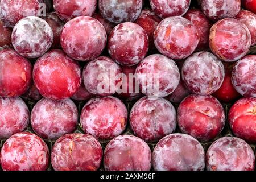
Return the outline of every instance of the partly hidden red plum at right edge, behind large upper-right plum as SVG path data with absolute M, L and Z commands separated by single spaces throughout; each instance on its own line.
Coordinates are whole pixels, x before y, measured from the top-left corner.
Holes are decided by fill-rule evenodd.
M 256 1 L 255 1 L 256 2 Z M 245 24 L 251 34 L 251 46 L 256 45 L 256 14 L 251 13 L 247 10 L 241 10 L 236 19 L 240 20 L 243 24 Z

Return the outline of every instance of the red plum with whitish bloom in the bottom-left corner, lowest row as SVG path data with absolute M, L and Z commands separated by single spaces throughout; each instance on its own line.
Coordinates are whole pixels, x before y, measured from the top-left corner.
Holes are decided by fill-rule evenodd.
M 32 133 L 17 133 L 6 140 L 1 149 L 3 171 L 46 171 L 49 149 Z

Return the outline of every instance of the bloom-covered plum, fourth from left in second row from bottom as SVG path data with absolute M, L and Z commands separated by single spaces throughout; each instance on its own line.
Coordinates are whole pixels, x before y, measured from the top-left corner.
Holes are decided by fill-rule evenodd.
M 131 109 L 130 125 L 137 137 L 146 142 L 158 142 L 175 131 L 176 110 L 164 98 L 143 97 Z

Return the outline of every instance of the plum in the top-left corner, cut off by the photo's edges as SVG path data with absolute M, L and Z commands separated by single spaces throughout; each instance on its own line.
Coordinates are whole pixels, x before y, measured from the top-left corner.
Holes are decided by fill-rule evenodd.
M 38 0 L 1 0 L 0 18 L 5 26 L 14 27 L 22 18 L 39 15 Z

